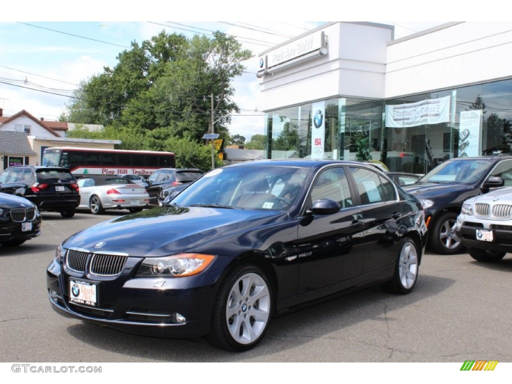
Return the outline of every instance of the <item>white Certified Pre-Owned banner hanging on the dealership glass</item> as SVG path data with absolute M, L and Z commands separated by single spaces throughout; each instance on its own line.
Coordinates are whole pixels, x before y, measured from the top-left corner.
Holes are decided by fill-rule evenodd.
M 450 96 L 408 104 L 386 105 L 386 126 L 402 128 L 450 121 Z

